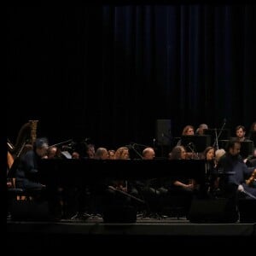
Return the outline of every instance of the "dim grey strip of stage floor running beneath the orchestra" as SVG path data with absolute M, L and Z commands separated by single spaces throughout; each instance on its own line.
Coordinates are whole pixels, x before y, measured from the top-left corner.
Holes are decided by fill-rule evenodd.
M 199 224 L 186 218 L 137 218 L 136 223 L 104 223 L 100 217 L 86 220 L 7 221 L 9 233 L 51 233 L 122 236 L 256 236 L 255 223 Z

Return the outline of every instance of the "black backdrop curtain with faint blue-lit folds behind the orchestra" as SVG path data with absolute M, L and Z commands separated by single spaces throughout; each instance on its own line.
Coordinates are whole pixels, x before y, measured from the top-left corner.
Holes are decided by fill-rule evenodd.
M 256 5 L 9 8 L 7 137 L 152 145 L 157 119 L 256 119 Z M 254 105 L 254 107 L 253 107 Z M 14 108 L 14 110 L 12 110 Z

